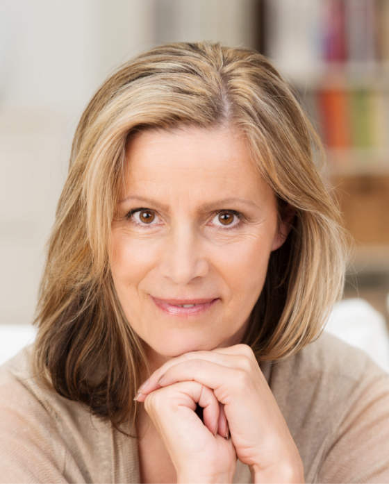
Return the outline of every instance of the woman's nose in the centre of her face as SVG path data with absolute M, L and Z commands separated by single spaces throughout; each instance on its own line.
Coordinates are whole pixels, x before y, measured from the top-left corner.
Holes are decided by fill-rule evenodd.
M 200 239 L 190 226 L 172 228 L 165 239 L 166 245 L 159 264 L 163 276 L 179 285 L 206 276 L 209 265 Z

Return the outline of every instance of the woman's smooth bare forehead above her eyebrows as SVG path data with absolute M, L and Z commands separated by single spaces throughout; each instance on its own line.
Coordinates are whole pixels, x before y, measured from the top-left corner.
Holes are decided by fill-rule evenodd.
M 245 135 L 231 128 L 143 131 L 129 142 L 126 155 L 126 192 L 167 190 L 209 197 L 270 190 L 251 159 Z

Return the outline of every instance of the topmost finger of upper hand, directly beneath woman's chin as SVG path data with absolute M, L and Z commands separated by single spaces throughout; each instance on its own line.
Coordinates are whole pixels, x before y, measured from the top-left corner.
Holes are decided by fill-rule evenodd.
M 251 348 L 247 344 L 236 344 L 229 348 L 218 348 L 213 351 L 191 351 L 189 353 L 184 353 L 177 358 L 172 358 L 166 362 L 162 367 L 160 367 L 150 378 L 143 383 L 138 389 L 135 399 L 139 401 L 144 401 L 142 399 L 142 394 L 147 395 L 149 392 L 153 392 L 160 387 L 158 381 L 167 372 L 167 370 L 174 365 L 181 362 L 185 362 L 193 359 L 204 359 L 210 362 L 218 363 L 219 365 L 224 365 L 230 368 L 242 368 L 249 371 L 250 367 L 259 368 L 258 362 L 252 352 Z

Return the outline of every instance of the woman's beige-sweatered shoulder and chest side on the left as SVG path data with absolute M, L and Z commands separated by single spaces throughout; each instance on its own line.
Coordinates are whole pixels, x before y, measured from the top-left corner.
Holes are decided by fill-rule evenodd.
M 109 482 L 110 424 L 41 385 L 32 351 L 0 367 L 0 482 Z

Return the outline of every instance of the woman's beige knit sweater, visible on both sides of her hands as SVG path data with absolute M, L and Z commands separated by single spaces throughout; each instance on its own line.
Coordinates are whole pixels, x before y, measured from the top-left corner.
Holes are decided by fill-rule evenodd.
M 1 483 L 139 483 L 135 440 L 40 387 L 31 347 L 0 368 Z M 262 367 L 308 483 L 389 483 L 389 376 L 330 335 Z M 234 482 L 250 483 L 238 462 Z

